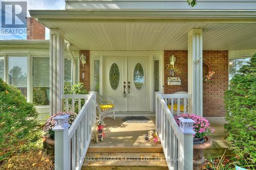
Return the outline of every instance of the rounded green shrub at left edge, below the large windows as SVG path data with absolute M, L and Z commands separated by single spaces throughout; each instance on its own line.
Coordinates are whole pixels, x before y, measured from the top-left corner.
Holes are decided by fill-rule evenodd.
M 0 79 L 0 162 L 19 151 L 37 126 L 37 112 L 15 87 Z

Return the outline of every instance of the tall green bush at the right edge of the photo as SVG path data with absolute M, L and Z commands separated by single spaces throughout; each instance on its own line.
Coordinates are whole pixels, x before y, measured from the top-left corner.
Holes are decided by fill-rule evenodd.
M 230 81 L 230 89 L 225 92 L 225 129 L 230 149 L 246 164 L 256 161 L 256 54 L 247 65 Z

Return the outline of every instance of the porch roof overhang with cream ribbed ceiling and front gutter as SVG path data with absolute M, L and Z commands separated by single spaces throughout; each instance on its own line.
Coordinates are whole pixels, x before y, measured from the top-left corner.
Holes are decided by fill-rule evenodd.
M 187 33 L 203 29 L 204 50 L 256 48 L 256 10 L 30 10 L 81 50 L 186 50 Z

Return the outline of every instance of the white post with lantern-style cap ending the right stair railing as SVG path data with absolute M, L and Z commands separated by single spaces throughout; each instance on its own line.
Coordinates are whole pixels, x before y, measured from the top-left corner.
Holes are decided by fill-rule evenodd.
M 179 170 L 193 169 L 193 135 L 196 133 L 193 130 L 194 120 L 188 117 L 179 117 L 182 135 L 179 140 Z

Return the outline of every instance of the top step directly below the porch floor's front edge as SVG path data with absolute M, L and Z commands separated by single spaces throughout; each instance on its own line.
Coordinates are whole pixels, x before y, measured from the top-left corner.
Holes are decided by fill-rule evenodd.
M 163 153 L 161 146 L 152 147 L 89 147 L 87 152 L 95 153 Z

